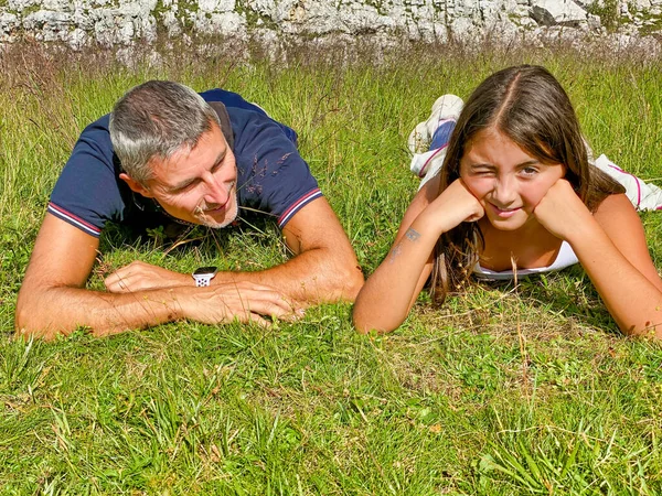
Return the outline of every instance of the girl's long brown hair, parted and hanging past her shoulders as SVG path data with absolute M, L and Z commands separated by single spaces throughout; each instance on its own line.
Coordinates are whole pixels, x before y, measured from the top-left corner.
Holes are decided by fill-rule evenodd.
M 484 129 L 496 129 L 542 163 L 565 164 L 565 179 L 595 212 L 608 195 L 624 188 L 588 163 L 586 143 L 570 99 L 544 67 L 520 65 L 483 80 L 467 100 L 448 143 L 439 194 L 460 176 L 465 148 Z M 444 302 L 471 277 L 484 239 L 478 223 L 462 223 L 441 235 L 435 248 L 433 296 Z

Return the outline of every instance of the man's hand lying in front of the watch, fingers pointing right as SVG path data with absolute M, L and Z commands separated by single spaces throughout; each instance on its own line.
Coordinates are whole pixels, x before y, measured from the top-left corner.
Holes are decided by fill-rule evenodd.
M 264 316 L 292 321 L 303 314 L 274 288 L 247 281 L 195 289 L 195 294 L 180 304 L 186 319 L 205 324 L 237 320 L 268 326 Z

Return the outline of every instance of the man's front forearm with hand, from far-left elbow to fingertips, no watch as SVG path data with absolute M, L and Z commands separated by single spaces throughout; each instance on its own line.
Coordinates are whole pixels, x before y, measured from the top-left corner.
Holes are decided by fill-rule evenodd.
M 245 281 L 126 293 L 49 287 L 19 295 L 17 332 L 52 338 L 84 326 L 94 335 L 105 336 L 180 319 L 204 324 L 238 320 L 268 325 L 269 317 L 292 319 L 292 310 L 278 291 Z

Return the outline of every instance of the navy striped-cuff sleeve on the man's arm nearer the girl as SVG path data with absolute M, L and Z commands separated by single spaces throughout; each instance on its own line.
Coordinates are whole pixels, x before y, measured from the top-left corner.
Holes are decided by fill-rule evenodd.
M 282 228 L 322 196 L 318 182 L 278 123 L 256 112 L 231 110 L 239 205 L 273 215 Z

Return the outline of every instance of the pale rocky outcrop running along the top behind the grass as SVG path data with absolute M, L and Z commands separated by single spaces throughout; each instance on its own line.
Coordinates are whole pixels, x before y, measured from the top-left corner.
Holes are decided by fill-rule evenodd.
M 662 0 L 0 0 L 0 42 L 129 45 L 184 36 L 656 36 Z M 616 33 L 616 34 L 615 34 Z

